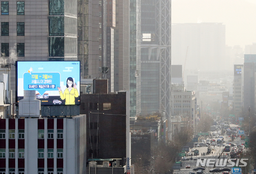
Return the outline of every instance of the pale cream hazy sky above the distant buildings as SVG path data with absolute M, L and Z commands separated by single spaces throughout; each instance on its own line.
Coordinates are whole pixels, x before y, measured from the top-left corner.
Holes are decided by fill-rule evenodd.
M 226 45 L 256 43 L 256 0 L 172 0 L 172 23 L 226 25 Z

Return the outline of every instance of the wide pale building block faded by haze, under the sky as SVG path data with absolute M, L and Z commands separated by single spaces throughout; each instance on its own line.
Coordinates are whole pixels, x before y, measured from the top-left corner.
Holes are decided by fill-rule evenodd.
M 185 70 L 226 70 L 225 25 L 222 23 L 172 24 L 172 64 Z M 227 68 L 228 67 L 228 68 Z M 184 75 L 185 77 L 185 75 Z

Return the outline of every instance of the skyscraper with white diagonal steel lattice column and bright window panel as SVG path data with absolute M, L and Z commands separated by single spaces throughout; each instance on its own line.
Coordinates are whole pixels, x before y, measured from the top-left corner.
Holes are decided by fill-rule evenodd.
M 171 0 L 141 0 L 141 110 L 171 115 Z M 170 121 L 168 121 L 170 123 Z

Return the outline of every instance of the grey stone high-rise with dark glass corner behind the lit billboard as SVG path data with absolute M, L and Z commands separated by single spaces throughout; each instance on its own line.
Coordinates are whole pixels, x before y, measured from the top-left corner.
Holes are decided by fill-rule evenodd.
M 2 1 L 1 63 L 77 60 L 77 3 Z M 10 68 L 15 101 L 15 67 Z

